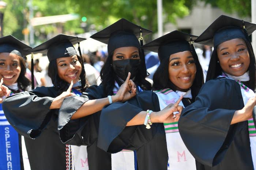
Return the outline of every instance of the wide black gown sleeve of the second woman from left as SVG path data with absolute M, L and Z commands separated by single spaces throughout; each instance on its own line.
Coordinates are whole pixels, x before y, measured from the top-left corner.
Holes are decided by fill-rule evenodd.
M 3 101 L 5 117 L 20 135 L 36 138 L 51 119 L 50 105 L 56 95 L 54 87 L 37 87 L 8 96 Z

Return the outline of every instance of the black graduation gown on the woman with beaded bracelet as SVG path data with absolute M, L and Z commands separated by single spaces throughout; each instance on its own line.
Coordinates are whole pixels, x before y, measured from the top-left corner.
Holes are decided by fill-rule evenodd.
M 184 106 L 188 103 L 182 99 Z M 143 91 L 125 103 L 113 103 L 102 110 L 98 147 L 117 153 L 123 149 L 136 150 L 138 167 L 142 170 L 166 170 L 168 153 L 163 123 L 127 126 L 140 111 L 160 111 L 158 96 L 152 91 Z M 199 168 L 197 168 L 199 170 Z

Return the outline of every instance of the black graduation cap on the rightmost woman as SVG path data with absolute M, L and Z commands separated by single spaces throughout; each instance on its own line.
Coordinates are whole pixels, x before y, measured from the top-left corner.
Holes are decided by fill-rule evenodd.
M 195 40 L 195 43 L 216 47 L 227 40 L 235 38 L 245 39 L 255 29 L 256 24 L 221 15 Z M 245 33 L 248 35 L 245 35 Z

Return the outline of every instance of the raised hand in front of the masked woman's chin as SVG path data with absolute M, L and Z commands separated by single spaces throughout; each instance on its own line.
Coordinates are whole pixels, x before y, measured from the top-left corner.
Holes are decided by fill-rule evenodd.
M 114 102 L 124 102 L 136 95 L 136 85 L 130 80 L 130 77 L 131 73 L 129 72 L 124 84 L 122 84 L 117 91 L 117 94 L 112 96 Z

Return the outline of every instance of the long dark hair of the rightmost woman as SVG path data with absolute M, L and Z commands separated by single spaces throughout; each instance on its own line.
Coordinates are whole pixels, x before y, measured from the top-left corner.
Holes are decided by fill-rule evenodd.
M 255 55 L 254 55 L 254 52 L 252 49 L 251 42 L 249 42 L 247 39 L 243 39 L 243 40 L 246 43 L 248 53 L 250 56 L 250 65 L 248 68 L 250 80 L 249 80 L 248 87 L 251 88 L 253 91 L 255 91 L 255 69 L 256 69 Z M 217 76 L 222 74 L 221 65 L 218 63 L 219 59 L 218 59 L 218 55 L 217 55 L 217 48 L 218 48 L 218 46 L 216 46 L 212 52 L 211 60 L 209 63 L 209 68 L 208 68 L 208 72 L 207 72 L 207 76 L 206 76 L 206 81 L 215 79 L 215 78 L 217 78 Z

